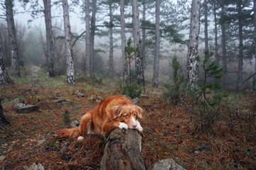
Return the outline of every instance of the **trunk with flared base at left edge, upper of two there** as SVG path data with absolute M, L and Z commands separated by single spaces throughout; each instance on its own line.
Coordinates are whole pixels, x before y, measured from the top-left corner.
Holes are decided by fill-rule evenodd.
M 14 81 L 10 79 L 6 72 L 4 62 L 4 51 L 2 45 L 0 44 L 0 86 L 8 86 L 9 84 L 14 84 Z

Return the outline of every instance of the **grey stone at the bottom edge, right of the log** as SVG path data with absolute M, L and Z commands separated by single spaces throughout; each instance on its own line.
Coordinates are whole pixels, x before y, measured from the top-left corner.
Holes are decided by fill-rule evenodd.
M 174 159 L 162 159 L 160 162 L 156 162 L 153 166 L 153 170 L 186 170 L 181 165 L 174 162 Z

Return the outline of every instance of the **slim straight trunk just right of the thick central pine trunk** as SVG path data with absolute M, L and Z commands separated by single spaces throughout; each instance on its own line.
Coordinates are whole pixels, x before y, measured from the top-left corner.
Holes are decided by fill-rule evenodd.
M 156 46 L 154 56 L 153 86 L 159 84 L 159 53 L 160 53 L 160 0 L 156 0 Z

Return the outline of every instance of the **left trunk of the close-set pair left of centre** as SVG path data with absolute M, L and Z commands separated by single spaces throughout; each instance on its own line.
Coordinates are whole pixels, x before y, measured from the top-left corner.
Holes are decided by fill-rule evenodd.
M 87 73 L 87 77 L 91 77 L 92 76 L 92 69 L 91 69 L 91 54 L 90 54 L 90 9 L 89 9 L 89 0 L 85 0 L 85 30 L 86 30 L 86 34 L 85 34 L 85 64 L 86 64 L 86 73 Z

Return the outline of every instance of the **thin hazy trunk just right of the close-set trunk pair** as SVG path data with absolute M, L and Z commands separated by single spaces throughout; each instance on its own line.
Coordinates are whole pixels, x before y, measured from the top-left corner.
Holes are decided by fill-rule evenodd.
M 109 74 L 110 78 L 114 77 L 114 47 L 113 47 L 113 13 L 112 3 L 110 2 L 110 60 L 109 60 Z

